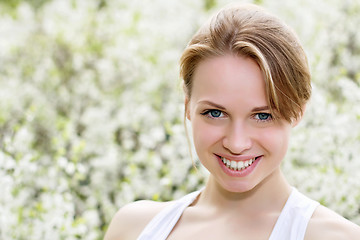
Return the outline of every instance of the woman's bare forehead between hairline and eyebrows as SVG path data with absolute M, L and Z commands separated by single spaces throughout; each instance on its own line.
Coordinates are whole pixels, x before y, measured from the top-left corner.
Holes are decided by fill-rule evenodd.
M 193 80 L 191 98 L 196 102 L 267 105 L 263 74 L 251 58 L 229 55 L 205 60 Z

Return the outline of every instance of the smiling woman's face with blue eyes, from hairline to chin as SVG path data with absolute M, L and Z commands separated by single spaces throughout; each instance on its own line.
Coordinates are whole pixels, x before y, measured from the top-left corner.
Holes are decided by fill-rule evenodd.
M 193 81 L 187 117 L 211 177 L 228 191 L 245 192 L 279 170 L 291 124 L 272 118 L 257 63 L 233 55 L 207 59 Z

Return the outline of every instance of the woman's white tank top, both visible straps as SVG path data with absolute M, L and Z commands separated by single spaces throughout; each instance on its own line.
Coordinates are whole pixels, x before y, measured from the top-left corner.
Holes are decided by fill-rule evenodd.
M 200 192 L 192 192 L 164 208 L 146 225 L 137 240 L 165 240 Z M 318 205 L 318 202 L 293 188 L 269 240 L 303 240 L 308 222 Z

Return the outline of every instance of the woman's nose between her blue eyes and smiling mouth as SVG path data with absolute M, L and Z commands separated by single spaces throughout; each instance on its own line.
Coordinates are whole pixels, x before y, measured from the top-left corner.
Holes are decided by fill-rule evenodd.
M 252 146 L 252 139 L 250 137 L 249 129 L 244 126 L 244 123 L 232 123 L 229 125 L 223 138 L 223 146 L 231 154 L 243 154 Z

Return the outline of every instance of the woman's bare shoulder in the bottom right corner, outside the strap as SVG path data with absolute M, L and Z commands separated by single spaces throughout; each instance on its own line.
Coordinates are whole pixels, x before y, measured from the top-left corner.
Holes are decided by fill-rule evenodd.
M 310 219 L 305 239 L 360 239 L 360 226 L 320 205 Z

